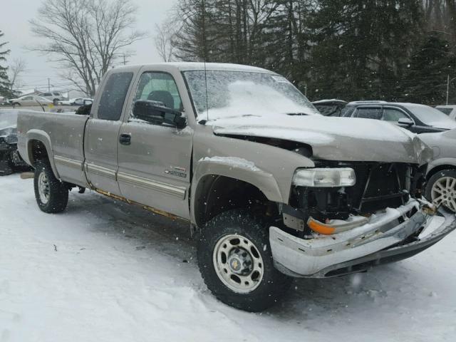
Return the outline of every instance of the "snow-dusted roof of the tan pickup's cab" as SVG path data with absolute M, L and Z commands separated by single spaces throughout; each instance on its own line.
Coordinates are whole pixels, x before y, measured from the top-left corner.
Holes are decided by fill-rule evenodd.
M 115 70 L 119 70 L 121 68 L 132 68 L 132 67 L 175 67 L 179 69 L 179 71 L 191 71 L 191 70 L 204 70 L 204 63 L 200 62 L 167 62 L 167 63 L 151 63 L 151 64 L 140 64 L 135 66 L 121 66 L 119 68 L 115 68 Z M 232 63 L 205 63 L 206 70 L 217 70 L 217 71 L 244 71 L 250 73 L 271 73 L 276 75 L 276 73 L 263 69 L 257 68 L 255 66 L 243 66 L 241 64 L 232 64 Z

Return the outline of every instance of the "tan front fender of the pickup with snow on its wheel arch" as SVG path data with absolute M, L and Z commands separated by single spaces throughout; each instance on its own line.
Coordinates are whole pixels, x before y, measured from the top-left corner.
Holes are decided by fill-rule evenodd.
M 257 187 L 272 202 L 288 204 L 291 182 L 299 167 L 315 167 L 308 157 L 260 142 L 217 136 L 197 130 L 193 143 L 191 207 L 202 177 L 221 175 Z

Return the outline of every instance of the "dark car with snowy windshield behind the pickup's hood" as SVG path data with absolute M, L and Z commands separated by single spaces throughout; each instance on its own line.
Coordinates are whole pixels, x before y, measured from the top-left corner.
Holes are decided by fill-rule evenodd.
M 456 128 L 456 121 L 440 110 L 417 103 L 356 101 L 348 103 L 340 116 L 390 121 L 413 133 L 437 133 Z

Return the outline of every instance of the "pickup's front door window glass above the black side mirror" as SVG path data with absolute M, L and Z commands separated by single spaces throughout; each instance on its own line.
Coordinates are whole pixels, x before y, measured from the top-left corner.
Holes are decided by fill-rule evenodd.
M 169 73 L 143 73 L 136 91 L 136 100 L 157 101 L 167 108 L 183 110 L 176 82 Z

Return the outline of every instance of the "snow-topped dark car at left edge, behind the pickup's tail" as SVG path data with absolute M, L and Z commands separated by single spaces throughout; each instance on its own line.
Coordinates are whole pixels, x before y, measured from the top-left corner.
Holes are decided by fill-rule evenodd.
M 17 151 L 17 110 L 0 110 L 0 176 L 26 167 Z

